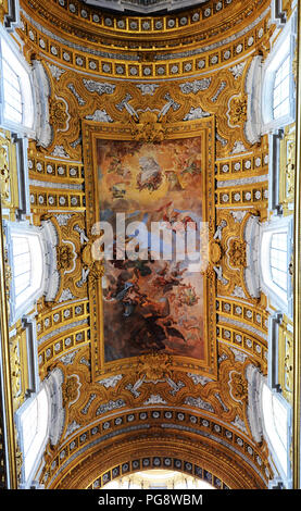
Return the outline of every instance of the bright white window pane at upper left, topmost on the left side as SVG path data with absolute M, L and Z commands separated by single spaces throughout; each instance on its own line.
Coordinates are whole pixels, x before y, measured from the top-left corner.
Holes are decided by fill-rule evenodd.
M 35 113 L 30 71 L 20 51 L 0 29 L 1 125 L 34 134 Z

